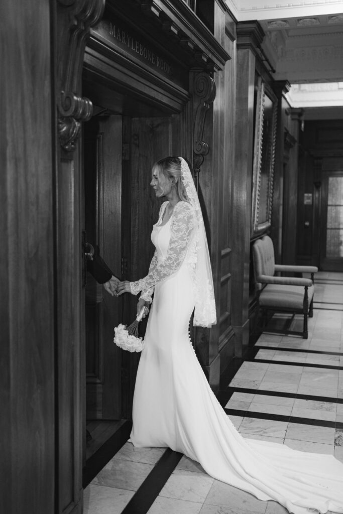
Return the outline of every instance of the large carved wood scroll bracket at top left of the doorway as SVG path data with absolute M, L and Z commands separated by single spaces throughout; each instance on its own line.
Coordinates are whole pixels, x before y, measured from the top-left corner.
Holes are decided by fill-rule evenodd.
M 91 27 L 101 19 L 105 0 L 58 0 L 59 98 L 58 135 L 65 152 L 73 153 L 83 121 L 92 117 L 93 105 L 79 94 L 84 49 Z

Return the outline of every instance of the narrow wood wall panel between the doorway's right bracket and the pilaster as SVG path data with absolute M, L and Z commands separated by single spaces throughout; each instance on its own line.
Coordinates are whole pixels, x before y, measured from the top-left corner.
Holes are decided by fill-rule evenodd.
M 216 77 L 217 98 L 216 102 L 220 108 L 214 109 L 214 116 L 217 123 L 214 125 L 214 147 L 213 160 L 220 169 L 220 180 L 218 183 L 219 208 L 217 229 L 217 259 L 220 273 L 217 276 L 217 303 L 218 309 L 218 332 L 213 335 L 216 338 L 216 351 L 219 361 L 218 378 L 225 371 L 234 355 L 234 332 L 232 329 L 232 248 L 230 242 L 230 197 L 232 181 L 234 176 L 234 136 L 235 116 L 234 105 L 236 103 L 236 26 L 231 16 L 222 12 L 217 7 L 217 16 L 223 20 L 223 25 L 217 38 L 230 55 L 230 60 L 225 65 L 224 72 Z M 218 367 L 218 365 L 217 365 Z M 218 380 L 217 378 L 217 380 Z

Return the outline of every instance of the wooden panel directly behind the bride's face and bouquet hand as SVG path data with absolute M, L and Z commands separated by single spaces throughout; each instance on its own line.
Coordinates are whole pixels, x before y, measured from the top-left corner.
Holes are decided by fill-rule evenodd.
M 162 157 L 175 155 L 180 148 L 179 116 L 123 118 L 122 161 L 122 255 L 125 280 L 146 276 L 154 252 L 150 240 L 161 200 L 156 200 L 150 187 L 152 164 Z M 123 322 L 131 323 L 136 313 L 137 298 L 123 295 Z M 144 336 L 147 320 L 140 324 Z M 139 354 L 122 352 L 124 417 L 131 417 L 132 397 Z

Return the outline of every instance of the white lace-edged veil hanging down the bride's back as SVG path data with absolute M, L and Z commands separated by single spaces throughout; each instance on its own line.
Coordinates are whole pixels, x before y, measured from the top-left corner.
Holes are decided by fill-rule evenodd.
M 185 186 L 190 204 L 193 208 L 196 221 L 196 233 L 193 248 L 195 256 L 195 310 L 193 324 L 195 326 L 210 327 L 216 323 L 216 314 L 211 262 L 207 245 L 204 219 L 196 193 L 193 177 L 188 164 L 183 157 L 179 157 L 179 160 L 181 163 L 182 181 Z

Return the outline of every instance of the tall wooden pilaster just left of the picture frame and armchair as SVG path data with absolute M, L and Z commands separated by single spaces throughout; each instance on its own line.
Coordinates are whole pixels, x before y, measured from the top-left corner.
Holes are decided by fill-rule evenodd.
M 249 267 L 251 183 L 254 142 L 255 24 L 237 33 L 236 137 L 231 190 L 230 240 L 232 247 L 232 326 L 235 355 L 241 357 L 249 340 Z

